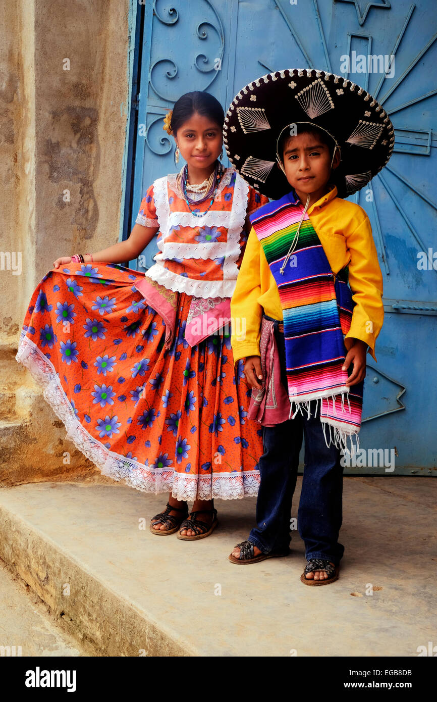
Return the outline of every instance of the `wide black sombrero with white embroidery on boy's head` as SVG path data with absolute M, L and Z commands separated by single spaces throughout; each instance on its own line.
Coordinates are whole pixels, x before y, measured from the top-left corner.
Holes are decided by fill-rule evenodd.
M 391 157 L 393 125 L 363 88 L 316 69 L 275 71 L 241 89 L 223 128 L 231 164 L 267 197 L 279 199 L 290 192 L 276 148 L 284 128 L 301 122 L 314 124 L 337 142 L 342 160 L 332 181 L 339 197 L 360 190 Z

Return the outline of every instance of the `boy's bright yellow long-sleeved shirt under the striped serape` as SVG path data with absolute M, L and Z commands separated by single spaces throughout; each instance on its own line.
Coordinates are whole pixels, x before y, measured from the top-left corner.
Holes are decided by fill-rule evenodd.
M 344 344 L 349 351 L 352 338 L 363 340 L 376 361 L 375 341 L 381 331 L 384 307 L 382 272 L 369 218 L 359 205 L 337 197 L 337 187 L 311 205 L 308 215 L 334 275 L 349 265 L 349 286 L 356 305 Z M 278 286 L 252 228 L 231 299 L 234 331 L 238 330 L 231 336 L 234 362 L 260 355 L 263 312 L 273 319 L 283 319 Z

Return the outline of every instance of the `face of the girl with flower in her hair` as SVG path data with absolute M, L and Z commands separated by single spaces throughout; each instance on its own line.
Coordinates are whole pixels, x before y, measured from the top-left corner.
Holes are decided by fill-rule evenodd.
M 194 112 L 177 130 L 175 140 L 188 168 L 211 171 L 222 149 L 222 129 L 209 117 Z

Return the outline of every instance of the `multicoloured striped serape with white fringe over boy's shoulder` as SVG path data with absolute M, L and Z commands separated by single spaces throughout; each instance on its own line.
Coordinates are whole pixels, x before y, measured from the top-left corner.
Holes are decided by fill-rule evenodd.
M 335 279 L 306 209 L 293 191 L 261 207 L 250 221 L 281 300 L 290 417 L 302 410 L 309 417 L 311 400 L 318 401 L 316 413 L 326 444 L 343 448 L 349 437 L 353 449 L 352 437 L 358 444 L 361 427 L 363 382 L 348 387 L 348 373 L 342 371 L 347 353 L 344 334 L 355 304 L 351 290 L 347 282 Z

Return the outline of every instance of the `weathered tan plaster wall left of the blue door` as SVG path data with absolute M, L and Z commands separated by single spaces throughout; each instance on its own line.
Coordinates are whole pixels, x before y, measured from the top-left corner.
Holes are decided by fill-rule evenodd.
M 106 480 L 64 441 L 15 353 L 29 299 L 53 260 L 118 241 L 128 12 L 129 0 L 0 4 L 0 484 Z

